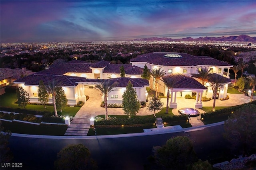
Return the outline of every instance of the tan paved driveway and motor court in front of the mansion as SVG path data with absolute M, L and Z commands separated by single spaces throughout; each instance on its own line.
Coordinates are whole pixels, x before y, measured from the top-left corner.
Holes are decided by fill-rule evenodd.
M 101 103 L 101 95 L 95 89 L 86 89 L 86 94 L 90 97 L 89 100 L 86 101 L 84 106 L 76 113 L 72 123 L 68 127 L 65 135 L 84 135 L 86 136 L 88 130 L 90 128 L 90 118 L 95 117 L 97 115 L 104 115 L 105 108 L 100 107 Z M 228 94 L 230 96 L 229 100 L 216 100 L 216 106 L 235 106 L 239 104 L 244 104 L 250 102 L 250 98 L 245 96 L 244 94 Z M 161 99 L 164 103 L 164 107 L 166 107 L 166 98 Z M 195 100 L 194 99 L 185 99 L 177 97 L 178 108 L 172 109 L 174 115 L 179 115 L 178 110 L 184 107 L 194 108 Z M 212 107 L 213 100 L 208 102 L 202 102 L 203 106 Z M 198 109 L 200 113 L 204 113 L 202 109 Z M 157 111 L 156 111 L 157 112 Z M 137 115 L 152 115 L 147 107 L 141 108 Z M 124 115 L 122 108 L 108 108 L 108 115 Z M 190 123 L 192 127 L 197 127 L 204 125 L 199 117 L 190 117 Z

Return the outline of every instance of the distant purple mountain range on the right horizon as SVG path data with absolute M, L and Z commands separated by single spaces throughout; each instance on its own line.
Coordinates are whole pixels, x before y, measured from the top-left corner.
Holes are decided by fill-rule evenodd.
M 249 35 L 239 35 L 239 36 L 229 36 L 229 37 L 199 37 L 199 38 L 180 38 L 180 39 L 172 39 L 172 38 L 158 38 L 158 37 L 150 37 L 150 38 L 139 38 L 134 39 L 133 41 L 240 41 L 240 42 L 248 42 L 248 43 L 256 43 L 256 37 L 250 37 Z

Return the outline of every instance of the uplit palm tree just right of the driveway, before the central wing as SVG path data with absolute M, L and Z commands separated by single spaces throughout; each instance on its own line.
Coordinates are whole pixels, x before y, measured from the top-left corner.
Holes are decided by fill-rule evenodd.
M 110 80 L 104 80 L 103 82 L 95 86 L 95 89 L 98 90 L 104 96 L 106 120 L 108 119 L 108 98 L 107 97 L 110 92 L 117 90 L 117 89 L 114 89 L 114 87 L 118 84 L 118 82 L 114 82 L 110 86 L 109 84 L 110 84 Z

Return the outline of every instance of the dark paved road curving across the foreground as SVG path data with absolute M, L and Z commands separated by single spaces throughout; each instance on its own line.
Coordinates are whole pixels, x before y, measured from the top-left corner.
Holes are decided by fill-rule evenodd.
M 68 144 L 82 143 L 91 152 L 100 170 L 143 170 L 152 147 L 163 145 L 173 136 L 188 136 L 194 144 L 198 157 L 203 160 L 220 155 L 226 151 L 222 138 L 223 125 L 208 127 L 188 133 L 169 133 L 139 137 L 111 139 L 36 139 L 11 137 L 10 148 L 14 162 L 22 162 L 26 170 L 52 169 L 59 150 Z M 22 169 L 22 168 L 20 168 Z

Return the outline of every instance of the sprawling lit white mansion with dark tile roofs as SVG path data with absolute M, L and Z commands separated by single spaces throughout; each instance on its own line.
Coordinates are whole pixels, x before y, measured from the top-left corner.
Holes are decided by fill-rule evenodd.
M 126 90 L 129 81 L 136 89 L 138 100 L 146 101 L 148 93 L 146 87 L 155 89 L 154 78 L 150 80 L 142 79 L 143 68 L 146 65 L 150 70 L 161 68 L 166 72 L 165 76 L 176 78 L 177 83 L 172 90 L 170 107 L 176 108 L 176 98 L 189 94 L 196 95 L 195 107 L 202 107 L 202 97 L 212 98 L 213 90 L 210 84 L 202 85 L 198 78 L 193 78 L 192 74 L 197 73 L 197 69 L 207 67 L 210 73 L 226 77 L 227 81 L 223 88 L 218 89 L 217 98 L 227 96 L 229 79 L 229 70 L 232 65 L 218 61 L 207 56 L 193 56 L 186 53 L 167 53 L 153 52 L 139 55 L 130 60 L 131 64 L 110 64 L 108 61 L 99 61 L 98 63 L 88 63 L 85 61 L 73 60 L 63 64 L 53 64 L 49 68 L 30 74 L 16 80 L 14 83 L 22 86 L 30 96 L 30 102 L 38 102 L 38 84 L 40 80 L 45 85 L 52 80 L 56 80 L 62 86 L 70 106 L 82 100 L 86 102 L 88 88 L 93 88 L 99 84 L 102 79 L 108 79 L 111 83 L 118 82 L 115 87 L 117 90 L 110 92 L 108 103 L 122 103 L 122 96 Z M 125 77 L 120 77 L 120 67 L 124 66 Z M 160 81 L 158 91 L 163 95 L 167 94 L 166 86 Z M 49 103 L 51 103 L 49 96 Z M 104 97 L 102 96 L 102 101 Z

